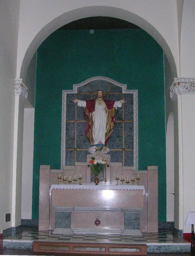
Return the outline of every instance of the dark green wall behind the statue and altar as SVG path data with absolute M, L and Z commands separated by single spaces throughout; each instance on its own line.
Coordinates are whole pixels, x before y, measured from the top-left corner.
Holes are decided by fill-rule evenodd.
M 32 218 L 39 166 L 60 169 L 62 90 L 97 76 L 138 90 L 139 170 L 158 165 L 158 219 L 166 221 L 163 51 L 142 29 L 56 31 L 37 50 Z

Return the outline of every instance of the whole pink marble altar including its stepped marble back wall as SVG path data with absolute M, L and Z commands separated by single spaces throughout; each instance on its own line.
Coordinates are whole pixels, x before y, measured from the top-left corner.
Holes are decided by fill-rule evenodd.
M 158 232 L 157 166 L 135 171 L 110 162 L 108 154 L 96 153 L 96 159 L 102 157 L 107 158 L 108 165 L 106 180 L 99 185 L 91 179 L 89 161 L 64 170 L 40 166 L 39 230 L 138 235 L 142 231 Z M 59 177 L 65 175 L 76 177 L 75 182 L 64 184 L 62 179 L 59 184 Z M 137 180 L 133 184 L 120 182 L 127 176 L 139 176 L 139 184 Z M 80 184 L 78 177 L 82 177 Z

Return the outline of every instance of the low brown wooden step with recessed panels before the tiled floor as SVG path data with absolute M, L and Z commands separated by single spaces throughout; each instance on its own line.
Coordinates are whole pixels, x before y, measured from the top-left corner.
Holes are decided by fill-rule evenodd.
M 34 241 L 33 252 L 96 255 L 147 255 L 146 244 L 100 244 Z

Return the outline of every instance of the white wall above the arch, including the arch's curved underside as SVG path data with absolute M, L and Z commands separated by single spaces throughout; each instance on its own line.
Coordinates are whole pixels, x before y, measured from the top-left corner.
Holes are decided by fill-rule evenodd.
M 20 14 L 17 77 L 26 79 L 26 67 L 47 36 L 90 16 L 121 18 L 145 29 L 163 48 L 174 76 L 179 75 L 176 0 L 21 0 Z

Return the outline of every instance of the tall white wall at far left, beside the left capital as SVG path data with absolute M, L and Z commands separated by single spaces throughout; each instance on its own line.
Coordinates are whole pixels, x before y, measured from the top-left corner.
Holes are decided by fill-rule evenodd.
M 0 233 L 11 227 L 4 221 L 11 213 L 13 138 L 14 138 L 14 79 L 17 65 L 17 40 L 20 0 L 0 1 Z

